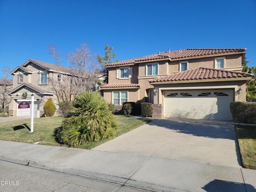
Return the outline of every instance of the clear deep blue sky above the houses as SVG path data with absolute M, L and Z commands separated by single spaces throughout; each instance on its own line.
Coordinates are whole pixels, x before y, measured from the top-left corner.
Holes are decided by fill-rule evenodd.
M 14 68 L 29 58 L 54 62 L 49 45 L 65 55 L 80 43 L 98 54 L 112 45 L 119 60 L 169 47 L 246 47 L 254 66 L 255 10 L 255 0 L 0 0 L 0 67 Z

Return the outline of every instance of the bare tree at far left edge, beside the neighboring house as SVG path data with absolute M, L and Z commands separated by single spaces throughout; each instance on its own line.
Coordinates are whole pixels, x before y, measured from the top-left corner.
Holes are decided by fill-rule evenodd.
M 4 77 L 0 79 L 0 87 L 1 87 L 1 92 L 0 92 L 0 102 L 1 102 L 1 108 L 5 109 L 6 106 L 10 103 L 10 97 L 7 95 L 7 93 L 11 89 L 12 81 L 9 78 L 10 75 L 10 67 L 5 66 L 3 68 L 3 75 Z

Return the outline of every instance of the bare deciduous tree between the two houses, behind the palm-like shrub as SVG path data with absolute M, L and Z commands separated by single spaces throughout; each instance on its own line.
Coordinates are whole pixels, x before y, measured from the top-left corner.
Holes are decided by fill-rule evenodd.
M 49 51 L 62 71 L 62 74 L 60 74 L 61 81 L 53 76 L 49 77 L 52 91 L 59 103 L 71 101 L 75 94 L 94 89 L 100 70 L 98 70 L 99 65 L 90 53 L 89 46 L 86 43 L 82 43 L 80 47 L 75 48 L 75 52 L 67 54 L 68 68 L 62 65 L 61 54 L 56 46 L 50 46 Z

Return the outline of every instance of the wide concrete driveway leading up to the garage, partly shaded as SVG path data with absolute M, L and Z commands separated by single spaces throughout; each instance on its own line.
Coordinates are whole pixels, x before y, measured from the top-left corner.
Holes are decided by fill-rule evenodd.
M 156 119 L 93 150 L 241 165 L 234 124 L 216 120 Z

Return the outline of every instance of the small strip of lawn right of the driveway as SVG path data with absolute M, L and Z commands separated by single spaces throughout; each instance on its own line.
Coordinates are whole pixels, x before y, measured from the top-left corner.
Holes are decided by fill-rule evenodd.
M 256 170 L 256 126 L 235 125 L 243 167 Z

